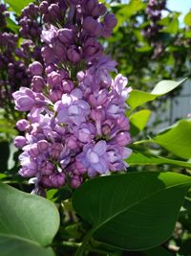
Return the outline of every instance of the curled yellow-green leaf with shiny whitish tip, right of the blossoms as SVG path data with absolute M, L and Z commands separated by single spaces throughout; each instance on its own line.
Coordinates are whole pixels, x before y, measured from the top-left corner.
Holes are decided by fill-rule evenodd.
M 155 86 L 155 88 L 151 91 L 151 93 L 143 92 L 139 90 L 133 90 L 130 92 L 130 97 L 127 100 L 127 104 L 130 105 L 131 111 L 134 110 L 139 105 L 143 105 L 145 103 L 151 102 L 172 90 L 176 87 L 180 86 L 181 83 L 186 81 L 186 79 L 181 81 L 171 81 L 171 80 L 163 80 L 159 81 L 159 83 Z

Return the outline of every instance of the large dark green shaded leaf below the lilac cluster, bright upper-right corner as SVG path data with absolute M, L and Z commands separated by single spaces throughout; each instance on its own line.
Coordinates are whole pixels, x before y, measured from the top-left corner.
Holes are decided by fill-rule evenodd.
M 86 236 L 126 250 L 145 250 L 172 234 L 191 177 L 175 173 L 101 176 L 74 193 L 74 209 L 93 225 Z M 82 255 L 82 254 L 76 254 Z

